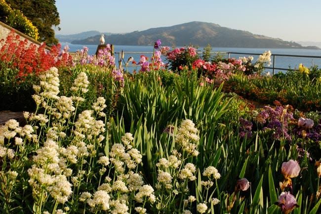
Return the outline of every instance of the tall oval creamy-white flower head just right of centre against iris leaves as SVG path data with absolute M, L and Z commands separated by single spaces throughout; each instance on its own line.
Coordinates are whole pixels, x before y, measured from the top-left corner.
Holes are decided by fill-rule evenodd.
M 198 129 L 191 120 L 184 120 L 178 128 L 175 142 L 181 146 L 182 150 L 190 155 L 198 156 L 197 143 L 200 140 Z

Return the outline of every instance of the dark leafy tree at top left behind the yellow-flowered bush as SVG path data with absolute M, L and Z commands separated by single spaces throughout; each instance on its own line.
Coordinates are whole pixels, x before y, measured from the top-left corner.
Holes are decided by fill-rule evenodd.
M 52 26 L 60 24 L 56 0 L 5 0 L 12 8 L 20 10 L 39 30 L 39 41 L 58 43 Z

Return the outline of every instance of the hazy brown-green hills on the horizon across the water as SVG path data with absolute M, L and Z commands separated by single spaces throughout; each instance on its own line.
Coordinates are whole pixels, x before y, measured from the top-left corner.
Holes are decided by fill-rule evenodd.
M 74 40 L 73 44 L 98 44 L 100 35 L 83 40 Z M 106 43 L 117 45 L 153 45 L 161 40 L 162 45 L 213 47 L 254 47 L 254 48 L 305 48 L 301 44 L 286 42 L 247 31 L 234 30 L 206 22 L 189 22 L 170 27 L 151 28 L 127 34 L 114 34 L 105 37 Z M 310 47 L 318 49 L 318 47 Z

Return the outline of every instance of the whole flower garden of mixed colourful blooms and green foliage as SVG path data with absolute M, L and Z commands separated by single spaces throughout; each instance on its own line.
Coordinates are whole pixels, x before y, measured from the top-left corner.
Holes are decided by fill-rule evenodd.
M 124 70 L 109 45 L 71 55 L 11 33 L 0 49 L 0 110 L 25 117 L 0 127 L 0 213 L 321 213 L 318 67 L 271 76 L 270 51 L 161 41 Z

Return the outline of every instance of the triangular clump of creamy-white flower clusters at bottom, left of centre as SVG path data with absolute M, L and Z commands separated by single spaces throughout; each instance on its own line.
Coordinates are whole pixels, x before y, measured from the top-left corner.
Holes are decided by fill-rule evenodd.
M 121 137 L 121 143 L 115 143 L 112 146 L 109 158 L 102 155 L 97 161 L 104 169 L 100 173 L 101 176 L 108 167 L 114 168 L 115 172 L 113 179 L 108 173 L 104 183 L 99 185 L 93 195 L 89 192 L 83 192 L 80 195 L 80 201 L 88 204 L 91 212 L 108 210 L 111 214 L 128 214 L 129 200 L 135 200 L 144 205 L 146 201 L 155 202 L 153 187 L 144 185 L 143 177 L 136 171 L 137 164 L 142 161 L 142 155 L 136 148 L 133 148 L 133 139 L 132 134 L 125 133 Z M 105 204 L 102 198 L 105 198 Z M 146 213 L 144 207 L 137 207 L 135 210 L 138 213 Z

